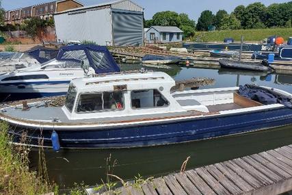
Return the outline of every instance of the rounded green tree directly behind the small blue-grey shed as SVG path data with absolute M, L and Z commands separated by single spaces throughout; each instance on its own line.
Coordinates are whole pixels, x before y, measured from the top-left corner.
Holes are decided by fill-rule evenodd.
M 176 12 L 157 12 L 152 17 L 152 25 L 179 27 L 181 25 L 181 18 Z

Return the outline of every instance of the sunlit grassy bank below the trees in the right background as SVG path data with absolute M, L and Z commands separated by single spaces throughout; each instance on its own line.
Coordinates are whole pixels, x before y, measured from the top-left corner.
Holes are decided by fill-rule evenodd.
M 224 30 L 224 31 L 196 31 L 193 41 L 197 42 L 222 42 L 224 38 L 234 38 L 240 41 L 241 35 L 245 41 L 260 42 L 269 36 L 282 36 L 287 40 L 292 36 L 292 28 L 271 28 L 271 29 L 240 29 L 240 30 Z

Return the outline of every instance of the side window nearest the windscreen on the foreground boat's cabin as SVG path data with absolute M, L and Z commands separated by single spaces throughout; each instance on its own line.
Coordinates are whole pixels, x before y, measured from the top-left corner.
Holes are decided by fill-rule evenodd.
M 81 94 L 77 112 L 102 112 L 124 109 L 122 92 Z

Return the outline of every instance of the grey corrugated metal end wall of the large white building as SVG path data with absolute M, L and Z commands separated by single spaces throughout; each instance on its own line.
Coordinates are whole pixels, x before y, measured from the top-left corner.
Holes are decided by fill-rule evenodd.
M 111 10 L 115 46 L 142 45 L 144 37 L 143 12 Z

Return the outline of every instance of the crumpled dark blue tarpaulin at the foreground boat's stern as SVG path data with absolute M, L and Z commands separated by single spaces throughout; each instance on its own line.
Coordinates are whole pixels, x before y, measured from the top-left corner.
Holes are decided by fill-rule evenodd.
M 274 103 L 280 103 L 292 108 L 292 98 L 291 96 L 285 96 L 274 90 L 268 90 L 260 86 L 248 85 L 239 86 L 239 94 L 248 99 L 258 101 L 264 105 L 270 105 Z

